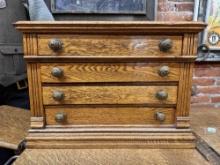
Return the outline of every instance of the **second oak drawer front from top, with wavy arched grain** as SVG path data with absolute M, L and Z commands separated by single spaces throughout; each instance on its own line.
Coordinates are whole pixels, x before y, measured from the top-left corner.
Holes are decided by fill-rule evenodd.
M 162 69 L 169 70 L 161 75 Z M 43 63 L 40 64 L 42 82 L 149 82 L 178 81 L 180 64 L 153 63 Z M 54 75 L 60 70 L 61 76 Z

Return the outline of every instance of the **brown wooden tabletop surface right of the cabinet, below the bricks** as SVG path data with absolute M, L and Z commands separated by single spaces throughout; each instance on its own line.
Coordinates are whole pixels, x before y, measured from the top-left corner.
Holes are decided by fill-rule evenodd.
M 191 126 L 196 135 L 220 155 L 220 108 L 192 108 Z M 208 127 L 215 128 L 216 133 L 208 133 Z

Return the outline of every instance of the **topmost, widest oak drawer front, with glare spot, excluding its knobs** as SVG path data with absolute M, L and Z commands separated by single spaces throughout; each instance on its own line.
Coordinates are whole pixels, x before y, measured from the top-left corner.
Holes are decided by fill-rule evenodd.
M 173 46 L 163 52 L 159 43 L 171 39 Z M 53 51 L 48 43 L 62 42 L 62 50 Z M 182 36 L 120 36 L 120 35 L 39 35 L 39 55 L 61 56 L 180 56 Z

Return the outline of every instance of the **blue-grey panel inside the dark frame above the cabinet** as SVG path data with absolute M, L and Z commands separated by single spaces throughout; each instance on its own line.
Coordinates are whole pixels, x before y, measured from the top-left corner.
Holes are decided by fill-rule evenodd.
M 51 0 L 53 13 L 145 14 L 147 0 Z

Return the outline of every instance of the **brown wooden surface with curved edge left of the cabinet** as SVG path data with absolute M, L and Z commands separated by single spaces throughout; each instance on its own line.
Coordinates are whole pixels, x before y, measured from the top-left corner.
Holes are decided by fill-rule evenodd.
M 16 150 L 28 134 L 30 111 L 0 106 L 0 147 Z

